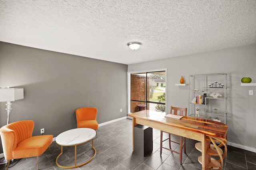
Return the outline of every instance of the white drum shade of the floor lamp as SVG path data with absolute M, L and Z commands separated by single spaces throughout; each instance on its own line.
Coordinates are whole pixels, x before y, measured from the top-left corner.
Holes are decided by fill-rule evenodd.
M 24 98 L 23 88 L 2 88 L 0 89 L 1 101 L 16 101 Z

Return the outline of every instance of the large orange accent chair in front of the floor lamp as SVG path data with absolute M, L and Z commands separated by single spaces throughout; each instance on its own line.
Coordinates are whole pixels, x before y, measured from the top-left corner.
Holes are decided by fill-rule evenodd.
M 53 135 L 32 136 L 34 121 L 18 121 L 0 128 L 4 158 L 10 160 L 36 156 L 39 170 L 38 156 L 44 153 L 52 143 Z M 50 149 L 50 148 L 49 148 Z

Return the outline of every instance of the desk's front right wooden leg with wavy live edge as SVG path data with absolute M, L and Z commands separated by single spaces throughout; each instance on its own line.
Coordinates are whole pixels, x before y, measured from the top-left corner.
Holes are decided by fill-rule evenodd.
M 206 140 L 206 135 L 202 134 L 202 170 L 210 170 L 207 168 L 211 160 L 211 156 L 206 153 L 208 148 L 210 148 L 210 142 Z

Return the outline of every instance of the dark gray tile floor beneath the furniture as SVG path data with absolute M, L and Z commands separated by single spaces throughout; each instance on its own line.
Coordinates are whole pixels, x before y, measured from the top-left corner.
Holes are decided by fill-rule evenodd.
M 175 139 L 175 136 L 173 138 Z M 197 160 L 201 153 L 194 147 L 197 141 L 186 139 L 187 153 L 183 153 L 183 164 L 180 165 L 179 154 L 163 149 L 162 156 L 160 156 L 160 130 L 153 129 L 153 140 L 153 152 L 143 157 L 132 152 L 132 120 L 124 119 L 101 126 L 98 130 L 98 138 L 94 139 L 94 146 L 97 150 L 95 158 L 88 164 L 73 168 L 73 170 L 200 170 L 202 168 Z M 172 148 L 174 147 L 177 145 L 172 145 Z M 60 146 L 54 141 L 50 150 L 51 153 L 46 150 L 39 156 L 40 170 L 62 169 L 55 163 L 60 153 Z M 73 166 L 74 146 L 63 147 L 63 152 L 59 163 Z M 77 164 L 88 160 L 93 154 L 91 142 L 79 145 Z M 9 170 L 37 170 L 36 158 L 23 158 L 18 163 L 11 163 L 10 167 Z M 0 170 L 4 169 L 5 165 L 1 165 Z M 256 170 L 256 153 L 228 146 L 223 169 Z

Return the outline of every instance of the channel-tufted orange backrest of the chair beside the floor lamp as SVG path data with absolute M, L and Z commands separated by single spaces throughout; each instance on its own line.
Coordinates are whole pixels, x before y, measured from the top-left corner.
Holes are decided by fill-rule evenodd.
M 30 138 L 34 129 L 34 121 L 18 121 L 0 128 L 0 135 L 6 160 L 14 159 L 12 150 L 19 142 Z

